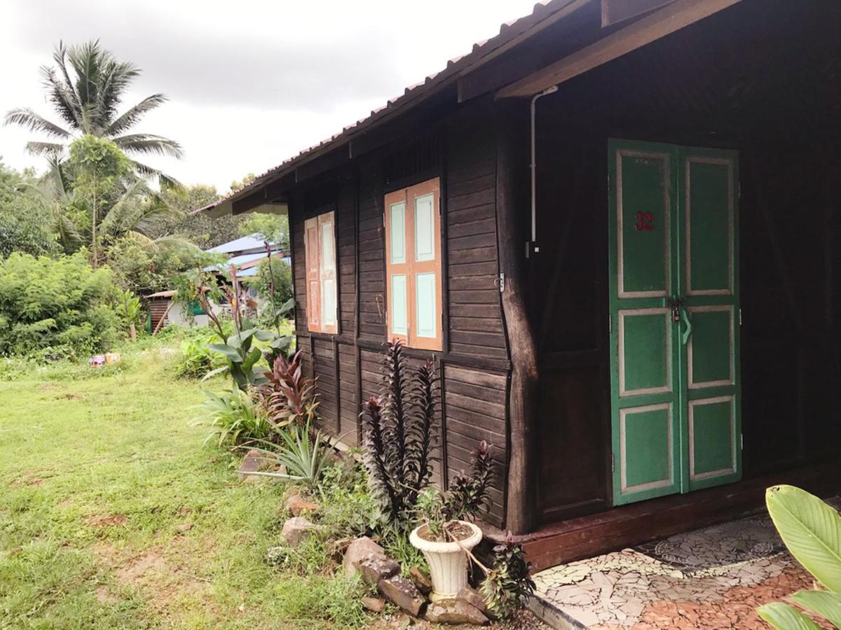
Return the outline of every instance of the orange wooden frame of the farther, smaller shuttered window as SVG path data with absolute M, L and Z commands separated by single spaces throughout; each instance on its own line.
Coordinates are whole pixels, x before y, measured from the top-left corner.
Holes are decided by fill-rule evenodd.
M 325 225 L 330 225 L 332 256 L 325 260 L 322 247 Z M 304 265 L 306 266 L 307 330 L 309 333 L 339 333 L 339 281 L 336 252 L 336 213 L 321 213 L 304 221 Z M 325 322 L 325 281 L 332 282 L 332 321 Z

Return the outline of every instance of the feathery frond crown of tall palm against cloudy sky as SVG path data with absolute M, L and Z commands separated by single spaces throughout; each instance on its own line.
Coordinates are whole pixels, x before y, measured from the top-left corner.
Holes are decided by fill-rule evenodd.
M 18 124 L 57 140 L 29 142 L 26 145 L 29 153 L 61 157 L 72 139 L 92 134 L 113 141 L 129 157 L 182 157 L 181 145 L 174 140 L 155 134 L 126 133 L 145 113 L 167 101 L 163 94 L 152 94 L 118 115 L 126 89 L 140 75 L 138 68 L 128 62 L 117 61 L 114 55 L 99 45 L 98 40 L 70 48 L 59 43 L 53 60 L 56 66 L 42 66 L 41 75 L 47 97 L 61 117 L 63 126 L 50 122 L 30 108 L 13 109 L 6 114 L 5 124 Z M 180 187 L 172 177 L 149 165 L 136 160 L 131 160 L 131 164 L 138 176 L 157 177 L 161 187 Z

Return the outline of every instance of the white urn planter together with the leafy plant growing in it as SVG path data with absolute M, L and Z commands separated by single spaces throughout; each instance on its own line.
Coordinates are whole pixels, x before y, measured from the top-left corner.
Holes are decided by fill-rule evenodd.
M 476 517 L 487 500 L 490 447 L 479 443 L 471 457 L 471 474 L 461 473 L 448 491 L 429 488 L 418 496 L 421 524 L 409 535 L 429 564 L 430 599 L 452 599 L 468 585 L 468 555 L 482 541 L 482 530 L 466 519 Z

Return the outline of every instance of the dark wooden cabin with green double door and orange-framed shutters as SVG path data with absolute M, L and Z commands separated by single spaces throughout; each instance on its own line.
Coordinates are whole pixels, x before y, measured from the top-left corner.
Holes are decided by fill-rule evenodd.
M 324 427 L 399 338 L 537 567 L 838 491 L 841 3 L 552 0 L 211 213 L 288 212 Z

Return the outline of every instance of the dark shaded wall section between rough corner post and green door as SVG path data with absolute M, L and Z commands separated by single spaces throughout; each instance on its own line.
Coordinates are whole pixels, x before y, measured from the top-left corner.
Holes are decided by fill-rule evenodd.
M 537 242 L 529 261 L 537 338 L 537 499 L 542 522 L 610 505 L 606 149 L 540 103 Z M 560 118 L 563 120 L 563 118 Z

